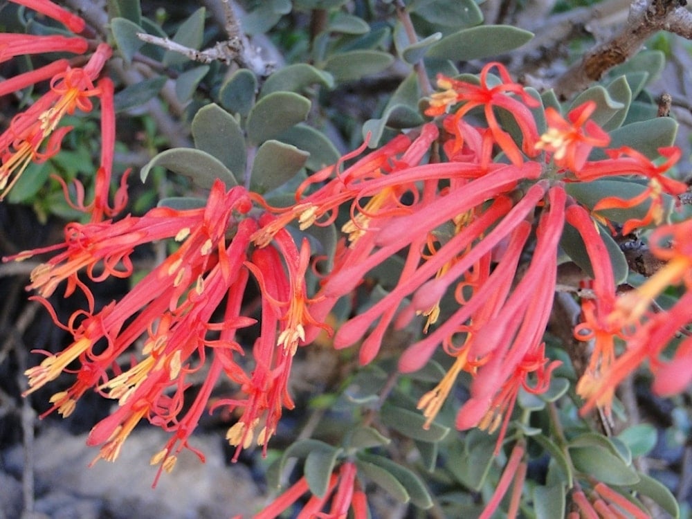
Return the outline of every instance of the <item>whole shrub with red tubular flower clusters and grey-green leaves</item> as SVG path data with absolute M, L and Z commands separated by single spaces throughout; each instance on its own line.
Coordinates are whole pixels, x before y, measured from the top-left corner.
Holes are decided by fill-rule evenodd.
M 692 379 L 692 228 L 676 203 L 687 191 L 675 174 L 681 151 L 672 145 L 671 119 L 631 109 L 632 90 L 643 88 L 632 75 L 592 86 L 567 107 L 551 91 L 513 80 L 500 62 L 477 77 L 457 75 L 449 62 L 432 91 L 425 58 L 468 59 L 449 53 L 469 30 L 506 35 L 474 59 L 510 50 L 525 34 L 478 26 L 417 40 L 411 16 L 430 11 L 396 3 L 400 27 L 414 31 L 406 48 L 397 39 L 411 75 L 383 118 L 365 124 L 363 145 L 340 154 L 303 124 L 312 102 L 301 94 L 360 77 L 354 64 L 362 73 L 389 66 L 391 55 L 366 48 L 365 37 L 330 41 L 325 28 L 315 45 L 327 54 L 315 57 L 316 66 L 263 76 L 239 33 L 229 30 L 236 47 L 229 43 L 226 54 L 223 46 L 197 50 L 203 11 L 183 21 L 173 43 L 154 41 L 169 46 L 163 55 L 151 39 L 143 46 L 137 33 L 153 33 L 154 23 L 127 2 L 112 3 L 105 37 L 106 29 L 51 1 L 14 3 L 27 8 L 17 11 L 25 20 L 40 14 L 60 26 L 0 35 L 2 61 L 48 51 L 70 57 L 0 83 L 3 95 L 31 98 L 0 136 L 0 197 L 31 165 L 60 154 L 73 129 L 67 116 L 95 113 L 97 100 L 100 109 L 95 174 L 55 177 L 83 216 L 66 224 L 61 242 L 5 258 L 46 258 L 28 289 L 70 338 L 58 352 L 39 352 L 25 396 L 70 380 L 45 414 L 71 415 L 86 392 L 117 403 L 87 439 L 99 448 L 96 459 L 115 461 L 134 427 L 148 421 L 170 433 L 152 453 L 159 475 L 174 470 L 184 448 L 203 460 L 192 434 L 206 412 L 232 419 L 233 461 L 255 445 L 266 456 L 282 413 L 296 405 L 293 365 L 303 350 L 329 345 L 344 349 L 344 359 L 355 348 L 361 366 L 351 363 L 327 406 L 345 426 L 275 453 L 271 477 L 285 488 L 255 510 L 257 518 L 295 503 L 298 517 L 365 518 L 371 482 L 450 516 L 489 518 L 502 509 L 516 517 L 535 507 L 541 517 L 644 517 L 641 496 L 677 513 L 669 491 L 634 468 L 626 441 L 589 426 L 594 410 L 614 421 L 617 387 L 642 365 L 657 394 L 682 392 Z M 325 12 L 347 16 L 343 3 Z M 260 10 L 246 24 L 260 24 Z M 238 29 L 233 12 L 226 15 Z M 174 44 L 204 64 L 175 55 L 183 51 Z M 166 198 L 136 216 L 126 214 L 129 170 L 113 191 L 114 92 L 120 113 L 153 100 L 163 82 L 126 86 L 123 68 L 156 60 L 177 78 L 179 102 L 198 86 L 201 93 L 188 105 L 194 147 L 156 154 L 141 177 L 149 181 L 165 167 L 190 177 L 189 194 L 204 198 Z M 241 68 L 221 82 L 212 60 Z M 32 95 L 32 85 L 45 93 Z M 648 228 L 661 265 L 625 291 L 634 281 L 621 245 Z M 136 251 L 161 241 L 165 257 L 138 272 Z M 563 280 L 567 264 L 579 270 L 572 285 Z M 124 297 L 95 298 L 97 284 L 136 274 Z M 679 297 L 663 309 L 657 298 L 671 286 Z M 547 334 L 565 304 L 556 293 L 565 291 L 579 309 L 571 344 Z M 86 304 L 62 320 L 56 295 L 83 296 Z M 408 341 L 392 352 L 387 343 L 397 331 Z M 583 367 L 579 355 L 587 357 Z M 233 390 L 219 394 L 219 387 Z M 528 464 L 543 455 L 551 460 L 547 475 L 529 484 Z M 289 482 L 293 458 L 304 463 Z M 438 465 L 457 486 L 480 492 L 477 502 L 448 499 L 453 484 L 426 476 Z

